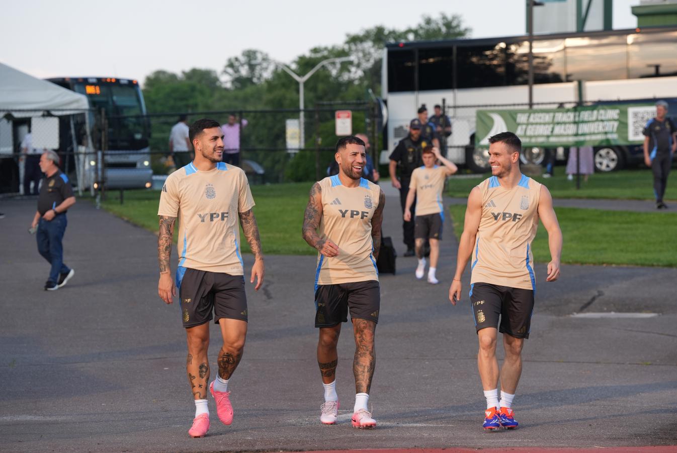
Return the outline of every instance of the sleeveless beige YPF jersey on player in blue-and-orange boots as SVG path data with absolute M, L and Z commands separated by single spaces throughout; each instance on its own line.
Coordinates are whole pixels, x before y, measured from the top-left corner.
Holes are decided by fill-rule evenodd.
M 522 175 L 510 190 L 492 176 L 479 184 L 482 217 L 471 256 L 471 284 L 536 290 L 531 241 L 538 228 L 541 185 Z M 472 287 L 471 287 L 472 291 Z

